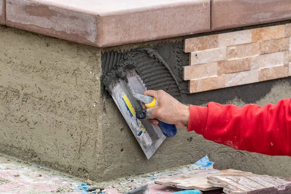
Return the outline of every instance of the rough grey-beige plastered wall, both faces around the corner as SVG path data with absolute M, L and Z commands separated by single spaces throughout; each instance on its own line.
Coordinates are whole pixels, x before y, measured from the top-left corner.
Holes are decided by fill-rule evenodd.
M 237 151 L 186 129 L 147 160 L 113 100 L 102 96 L 101 72 L 100 49 L 0 26 L 0 152 L 97 181 L 205 155 L 217 169 L 291 175 L 290 157 Z M 193 95 L 196 105 L 264 105 L 290 98 L 291 79 Z

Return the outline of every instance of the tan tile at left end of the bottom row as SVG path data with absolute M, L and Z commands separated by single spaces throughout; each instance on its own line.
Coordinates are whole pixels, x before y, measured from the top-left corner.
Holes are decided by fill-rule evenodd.
M 189 81 L 189 92 L 204 92 L 225 87 L 225 75 Z

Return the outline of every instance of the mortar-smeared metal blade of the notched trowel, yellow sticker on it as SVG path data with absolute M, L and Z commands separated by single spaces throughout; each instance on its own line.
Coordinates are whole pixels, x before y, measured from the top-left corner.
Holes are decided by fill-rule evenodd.
M 149 159 L 165 140 L 160 128 L 150 124 L 146 119 L 137 119 L 135 113 L 143 109 L 133 94 L 143 94 L 146 86 L 134 69 L 124 70 L 125 79 L 114 78 L 107 85 L 115 104 L 125 118 L 129 128 Z

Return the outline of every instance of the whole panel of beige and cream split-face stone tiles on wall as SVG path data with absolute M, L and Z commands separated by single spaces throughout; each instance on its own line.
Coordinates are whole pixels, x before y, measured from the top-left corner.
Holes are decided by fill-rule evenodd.
M 288 77 L 291 24 L 189 38 L 184 51 L 190 93 Z

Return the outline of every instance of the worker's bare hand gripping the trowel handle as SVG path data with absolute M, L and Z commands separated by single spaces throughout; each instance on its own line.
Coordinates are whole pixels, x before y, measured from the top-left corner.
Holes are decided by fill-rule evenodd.
M 146 109 L 146 119 L 149 119 L 151 124 L 158 127 L 158 120 L 160 120 L 164 123 L 174 124 L 179 128 L 188 125 L 190 115 L 189 106 L 180 103 L 163 90 L 148 90 L 144 92 L 144 95 L 157 99 L 154 108 Z M 145 105 L 143 107 L 146 108 Z

